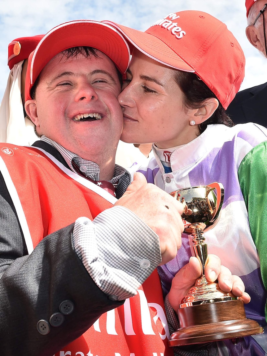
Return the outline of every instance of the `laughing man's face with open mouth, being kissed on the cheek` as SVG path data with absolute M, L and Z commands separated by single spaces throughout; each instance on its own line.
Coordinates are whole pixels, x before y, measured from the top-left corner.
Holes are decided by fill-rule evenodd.
M 35 100 L 26 102 L 38 133 L 94 162 L 113 159 L 123 124 L 117 70 L 97 54 L 66 59 L 59 53 L 42 70 Z

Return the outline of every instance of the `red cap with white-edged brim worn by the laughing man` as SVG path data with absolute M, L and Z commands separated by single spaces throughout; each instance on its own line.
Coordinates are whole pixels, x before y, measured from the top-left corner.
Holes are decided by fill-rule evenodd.
M 62 23 L 49 31 L 30 54 L 25 80 L 25 101 L 31 98 L 31 88 L 46 64 L 65 49 L 94 47 L 114 62 L 120 73 L 130 63 L 130 49 L 124 36 L 114 27 L 99 21 L 75 20 Z

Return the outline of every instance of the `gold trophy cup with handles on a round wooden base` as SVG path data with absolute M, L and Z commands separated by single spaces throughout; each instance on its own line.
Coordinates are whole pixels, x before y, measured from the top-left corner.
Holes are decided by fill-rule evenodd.
M 193 229 L 193 249 L 201 264 L 201 277 L 181 301 L 177 310 L 180 328 L 171 335 L 169 346 L 262 333 L 262 327 L 255 320 L 246 318 L 242 300 L 231 292 L 223 292 L 218 281 L 207 282 L 204 275 L 208 248 L 200 223 L 204 223 L 205 228 L 218 218 L 224 199 L 223 185 L 215 182 L 203 187 L 179 189 L 170 195 L 178 200 L 185 198 L 182 218 Z

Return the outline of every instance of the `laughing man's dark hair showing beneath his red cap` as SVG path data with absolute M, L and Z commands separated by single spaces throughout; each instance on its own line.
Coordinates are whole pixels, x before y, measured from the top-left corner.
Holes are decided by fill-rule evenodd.
M 72 48 L 65 49 L 61 53 L 62 53 L 62 58 L 66 57 L 66 59 L 75 58 L 79 54 L 82 54 L 86 58 L 91 58 L 92 56 L 99 58 L 99 55 L 96 51 L 97 50 L 93 47 L 80 46 L 80 47 L 72 47 Z M 116 70 L 117 70 L 117 74 L 118 74 L 120 83 L 122 85 L 122 75 L 117 68 L 116 68 Z M 35 80 L 35 83 L 33 84 L 33 87 L 31 88 L 30 94 L 31 94 L 32 99 L 35 99 L 36 88 L 39 83 L 39 80 L 40 80 L 40 74 L 38 75 L 37 79 Z

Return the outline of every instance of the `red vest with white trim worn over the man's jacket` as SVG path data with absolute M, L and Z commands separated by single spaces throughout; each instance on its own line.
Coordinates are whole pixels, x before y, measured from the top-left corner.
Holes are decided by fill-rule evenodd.
M 4 146 L 5 145 L 5 146 Z M 116 199 L 35 147 L 1 144 L 0 169 L 29 253 L 78 217 L 93 220 Z M 56 356 L 171 356 L 161 283 L 155 270 L 124 305 L 103 314 Z

